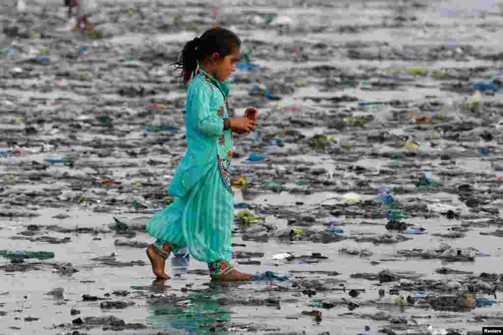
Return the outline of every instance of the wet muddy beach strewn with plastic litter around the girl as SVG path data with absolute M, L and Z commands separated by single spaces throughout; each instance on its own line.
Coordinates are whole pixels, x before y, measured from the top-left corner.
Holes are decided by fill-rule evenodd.
M 0 5 L 0 334 L 503 324 L 503 7 L 184 4 L 104 3 L 88 33 Z M 231 172 L 235 262 L 262 280 L 179 255 L 160 283 L 144 228 L 185 152 L 169 64 L 217 23 L 245 46 L 230 108 L 259 109 Z

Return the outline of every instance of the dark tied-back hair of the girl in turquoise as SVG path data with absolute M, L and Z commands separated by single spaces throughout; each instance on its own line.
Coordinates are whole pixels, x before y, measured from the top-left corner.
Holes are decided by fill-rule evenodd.
M 171 65 L 175 65 L 175 69 L 182 69 L 184 83 L 187 84 L 191 77 L 196 75 L 198 64 L 203 63 L 207 56 L 216 52 L 224 58 L 240 46 L 241 40 L 236 34 L 230 30 L 215 27 L 205 31 L 201 37 L 187 42 L 178 62 Z

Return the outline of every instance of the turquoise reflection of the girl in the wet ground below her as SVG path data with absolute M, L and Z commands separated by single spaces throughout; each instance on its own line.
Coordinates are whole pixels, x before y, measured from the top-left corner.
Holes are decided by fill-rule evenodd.
M 189 261 L 190 257 L 173 257 L 173 273 L 179 273 L 183 276 L 189 267 Z M 165 290 L 165 285 L 166 282 L 164 280 L 154 281 L 157 293 L 162 293 Z M 217 321 L 231 321 L 230 307 L 221 306 L 215 301 L 215 298 L 219 298 L 220 295 L 224 296 L 225 291 L 232 288 L 227 285 L 211 283 L 210 289 L 211 291 L 190 294 L 188 299 L 191 301 L 183 306 L 175 303 L 158 306 L 150 305 L 150 329 L 184 329 L 188 330 L 190 334 L 202 334 L 206 332 L 218 334 L 219 331 L 211 331 L 211 326 L 205 325 L 214 324 Z

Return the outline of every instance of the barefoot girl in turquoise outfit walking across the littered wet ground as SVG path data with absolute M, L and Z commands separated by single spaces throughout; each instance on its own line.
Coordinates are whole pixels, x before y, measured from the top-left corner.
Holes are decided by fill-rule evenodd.
M 170 278 L 164 273 L 165 260 L 185 247 L 208 263 L 212 279 L 251 279 L 231 264 L 234 201 L 227 169 L 232 131 L 249 133 L 255 126 L 248 118 L 228 115 L 226 79 L 236 70 L 240 45 L 234 33 L 215 27 L 188 42 L 174 63 L 186 84 L 193 79 L 185 106 L 187 151 L 167 190 L 178 198 L 146 227 L 156 239 L 146 253 L 158 279 Z

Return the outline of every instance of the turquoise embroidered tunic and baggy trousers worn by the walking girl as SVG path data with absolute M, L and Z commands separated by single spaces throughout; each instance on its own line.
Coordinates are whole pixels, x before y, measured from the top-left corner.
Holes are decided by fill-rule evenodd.
M 212 275 L 232 268 L 231 232 L 234 195 L 228 176 L 232 157 L 232 131 L 223 130 L 228 118 L 227 82 L 205 71 L 192 79 L 186 102 L 187 151 L 167 188 L 175 201 L 155 213 L 146 227 L 162 249 L 187 247 L 208 263 Z

